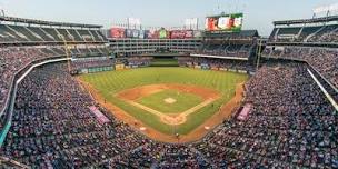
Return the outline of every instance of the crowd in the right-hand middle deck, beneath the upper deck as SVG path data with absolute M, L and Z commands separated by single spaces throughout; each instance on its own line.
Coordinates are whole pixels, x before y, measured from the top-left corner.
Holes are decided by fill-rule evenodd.
M 317 69 L 334 86 L 338 87 L 338 50 L 331 48 L 275 47 L 267 48 L 264 56 L 302 60 Z

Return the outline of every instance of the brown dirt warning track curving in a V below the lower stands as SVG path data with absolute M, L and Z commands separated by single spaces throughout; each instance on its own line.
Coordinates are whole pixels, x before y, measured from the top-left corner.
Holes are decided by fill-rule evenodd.
M 195 130 L 189 132 L 188 135 L 181 135 L 179 138 L 172 135 L 166 135 L 162 132 L 157 131 L 156 129 L 151 128 L 150 126 L 147 126 L 142 121 L 136 119 L 135 117 L 130 116 L 128 112 L 123 111 L 122 109 L 118 108 L 117 106 L 105 101 L 105 98 L 99 95 L 99 92 L 89 83 L 80 80 L 77 78 L 78 81 L 82 84 L 84 89 L 87 89 L 90 95 L 93 97 L 93 99 L 100 103 L 100 106 L 105 107 L 107 110 L 109 110 L 118 120 L 121 120 L 126 123 L 128 123 L 131 128 L 133 128 L 136 131 L 143 133 L 145 136 L 157 140 L 161 142 L 169 142 L 169 143 L 186 143 L 186 142 L 193 142 L 197 140 L 200 140 L 203 138 L 208 132 L 212 131 L 215 127 L 220 125 L 225 119 L 227 119 L 229 116 L 231 116 L 232 110 L 239 106 L 242 93 L 243 93 L 243 87 L 242 84 L 237 84 L 236 87 L 236 96 L 225 103 L 219 112 L 216 112 L 213 116 L 211 116 L 208 120 L 206 120 L 203 123 L 201 123 L 199 127 L 197 127 Z M 162 90 L 162 89 L 159 89 Z M 149 90 L 148 90 L 149 91 Z M 133 99 L 138 98 L 138 95 L 132 97 Z M 140 130 L 141 128 L 146 128 L 146 130 Z M 206 129 L 208 128 L 208 129 Z

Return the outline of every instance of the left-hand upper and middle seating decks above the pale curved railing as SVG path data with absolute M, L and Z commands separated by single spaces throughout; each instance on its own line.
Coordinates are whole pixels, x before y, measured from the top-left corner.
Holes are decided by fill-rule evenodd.
M 14 19 L 10 19 L 13 21 Z M 21 20 L 20 20 L 21 21 Z M 39 23 L 36 23 L 39 24 Z M 86 41 L 84 34 L 91 36 L 90 43 Z M 60 36 L 62 34 L 62 36 Z M 14 73 L 26 68 L 33 61 L 50 59 L 54 57 L 66 57 L 64 42 L 62 37 L 80 50 L 73 53 L 78 57 L 109 56 L 110 51 L 105 47 L 106 38 L 99 30 L 78 30 L 70 28 L 30 27 L 24 24 L 0 24 L 0 112 L 2 116 L 9 88 Z M 95 49 L 95 50 L 91 50 Z

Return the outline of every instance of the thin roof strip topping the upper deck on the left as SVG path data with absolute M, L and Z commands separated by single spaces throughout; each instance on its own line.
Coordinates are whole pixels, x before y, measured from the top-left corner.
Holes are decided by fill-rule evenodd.
M 24 19 L 24 18 L 6 17 L 6 16 L 0 16 L 0 21 L 20 22 L 28 24 L 59 26 L 59 27 L 81 27 L 81 28 L 97 28 L 97 29 L 102 28 L 102 26 L 97 26 L 97 24 L 53 22 L 53 21 L 43 21 L 43 20 Z

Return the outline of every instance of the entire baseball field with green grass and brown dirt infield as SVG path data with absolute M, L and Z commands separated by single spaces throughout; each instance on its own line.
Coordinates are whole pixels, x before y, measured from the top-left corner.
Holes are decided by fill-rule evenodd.
M 199 135 L 197 130 L 215 127 L 215 122 L 228 117 L 238 103 L 241 97 L 237 93 L 238 89 L 247 79 L 248 76 L 242 73 L 178 67 L 150 67 L 79 77 L 81 83 L 116 117 L 149 137 L 167 138 L 192 132 Z M 236 95 L 237 101 L 232 100 L 229 106 Z M 222 116 L 217 117 L 217 113 Z

